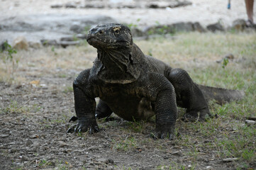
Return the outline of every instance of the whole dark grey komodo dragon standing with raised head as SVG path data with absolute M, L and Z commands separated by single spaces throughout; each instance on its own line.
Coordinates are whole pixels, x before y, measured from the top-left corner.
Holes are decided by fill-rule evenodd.
M 87 42 L 97 49 L 98 57 L 73 83 L 75 132 L 99 132 L 96 118 L 112 112 L 131 121 L 155 115 L 155 137 L 172 139 L 177 106 L 187 108 L 186 117 L 205 120 L 212 115 L 204 95 L 219 102 L 243 96 L 241 91 L 230 90 L 227 96 L 225 89 L 197 85 L 183 69 L 144 55 L 123 24 L 96 26 L 89 30 Z

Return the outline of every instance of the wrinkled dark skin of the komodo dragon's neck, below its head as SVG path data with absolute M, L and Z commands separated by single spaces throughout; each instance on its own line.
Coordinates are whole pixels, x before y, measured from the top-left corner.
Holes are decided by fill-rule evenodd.
M 133 60 L 133 45 L 118 49 L 98 49 L 101 69 L 97 72 L 99 79 L 106 83 L 128 84 L 140 76 L 140 71 Z

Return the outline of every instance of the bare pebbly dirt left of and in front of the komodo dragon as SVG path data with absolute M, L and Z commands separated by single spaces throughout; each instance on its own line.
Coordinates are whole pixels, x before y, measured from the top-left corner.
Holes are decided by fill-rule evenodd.
M 194 141 L 198 146 L 196 157 L 189 155 L 193 148 L 179 141 L 153 140 L 149 137 L 155 127 L 153 122 L 129 123 L 114 116 L 113 120 L 99 121 L 101 132 L 97 134 L 66 133 L 75 123 L 68 123 L 74 115 L 74 101 L 72 90 L 65 86 L 71 86 L 77 72 L 61 70 L 56 74 L 50 70 L 39 76 L 33 70 L 23 72 L 27 81 L 40 80 L 40 84 L 0 83 L 2 109 L 9 109 L 5 111 L 9 114 L 1 114 L 0 118 L 0 169 L 165 169 L 165 166 L 169 169 L 170 164 L 173 169 L 234 169 L 237 166 L 235 162 L 222 162 L 218 147 L 201 147 L 201 143 L 211 143 L 214 138 Z M 188 130 L 189 125 L 177 121 L 183 136 L 200 137 L 200 132 Z

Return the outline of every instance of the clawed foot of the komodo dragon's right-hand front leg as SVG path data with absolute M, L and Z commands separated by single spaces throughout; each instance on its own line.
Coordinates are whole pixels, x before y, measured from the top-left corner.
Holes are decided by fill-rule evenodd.
M 174 140 L 174 125 L 157 125 L 155 134 L 151 134 L 154 139 Z

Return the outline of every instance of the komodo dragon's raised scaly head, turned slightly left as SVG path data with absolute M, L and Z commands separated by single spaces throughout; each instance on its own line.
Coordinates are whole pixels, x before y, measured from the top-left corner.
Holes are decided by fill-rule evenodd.
M 108 23 L 91 28 L 87 35 L 89 45 L 99 50 L 129 48 L 133 44 L 130 29 L 120 23 Z

